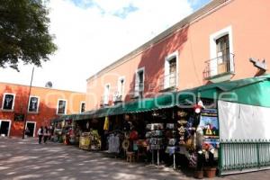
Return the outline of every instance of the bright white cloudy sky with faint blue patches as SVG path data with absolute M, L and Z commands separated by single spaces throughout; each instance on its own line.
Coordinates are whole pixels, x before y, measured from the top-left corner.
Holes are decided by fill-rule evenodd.
M 211 0 L 50 0 L 58 50 L 35 67 L 32 85 L 86 92 L 86 79 Z M 0 68 L 0 82 L 30 85 L 32 65 Z

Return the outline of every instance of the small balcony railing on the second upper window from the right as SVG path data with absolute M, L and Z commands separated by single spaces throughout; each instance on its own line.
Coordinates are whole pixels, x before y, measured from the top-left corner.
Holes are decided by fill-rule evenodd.
M 173 72 L 159 79 L 159 91 L 175 90 L 177 86 L 177 73 Z

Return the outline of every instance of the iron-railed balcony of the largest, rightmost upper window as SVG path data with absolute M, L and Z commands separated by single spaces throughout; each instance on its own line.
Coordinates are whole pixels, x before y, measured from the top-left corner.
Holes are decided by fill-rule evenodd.
M 212 83 L 227 81 L 234 75 L 234 54 L 227 54 L 207 60 L 203 78 Z

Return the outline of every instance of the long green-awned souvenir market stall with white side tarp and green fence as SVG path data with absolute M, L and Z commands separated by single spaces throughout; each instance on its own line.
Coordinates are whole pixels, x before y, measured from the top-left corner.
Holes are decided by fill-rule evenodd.
M 101 121 L 98 133 L 109 153 L 189 166 L 197 177 L 203 171 L 225 175 L 269 167 L 270 155 L 264 153 L 270 152 L 269 91 L 270 76 L 260 76 L 139 99 L 76 118 Z

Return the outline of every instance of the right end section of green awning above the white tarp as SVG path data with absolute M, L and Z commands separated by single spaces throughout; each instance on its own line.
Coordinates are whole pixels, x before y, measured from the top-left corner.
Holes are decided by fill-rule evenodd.
M 202 85 L 197 88 L 197 95 L 202 98 L 263 107 L 270 107 L 269 94 L 270 75 Z

